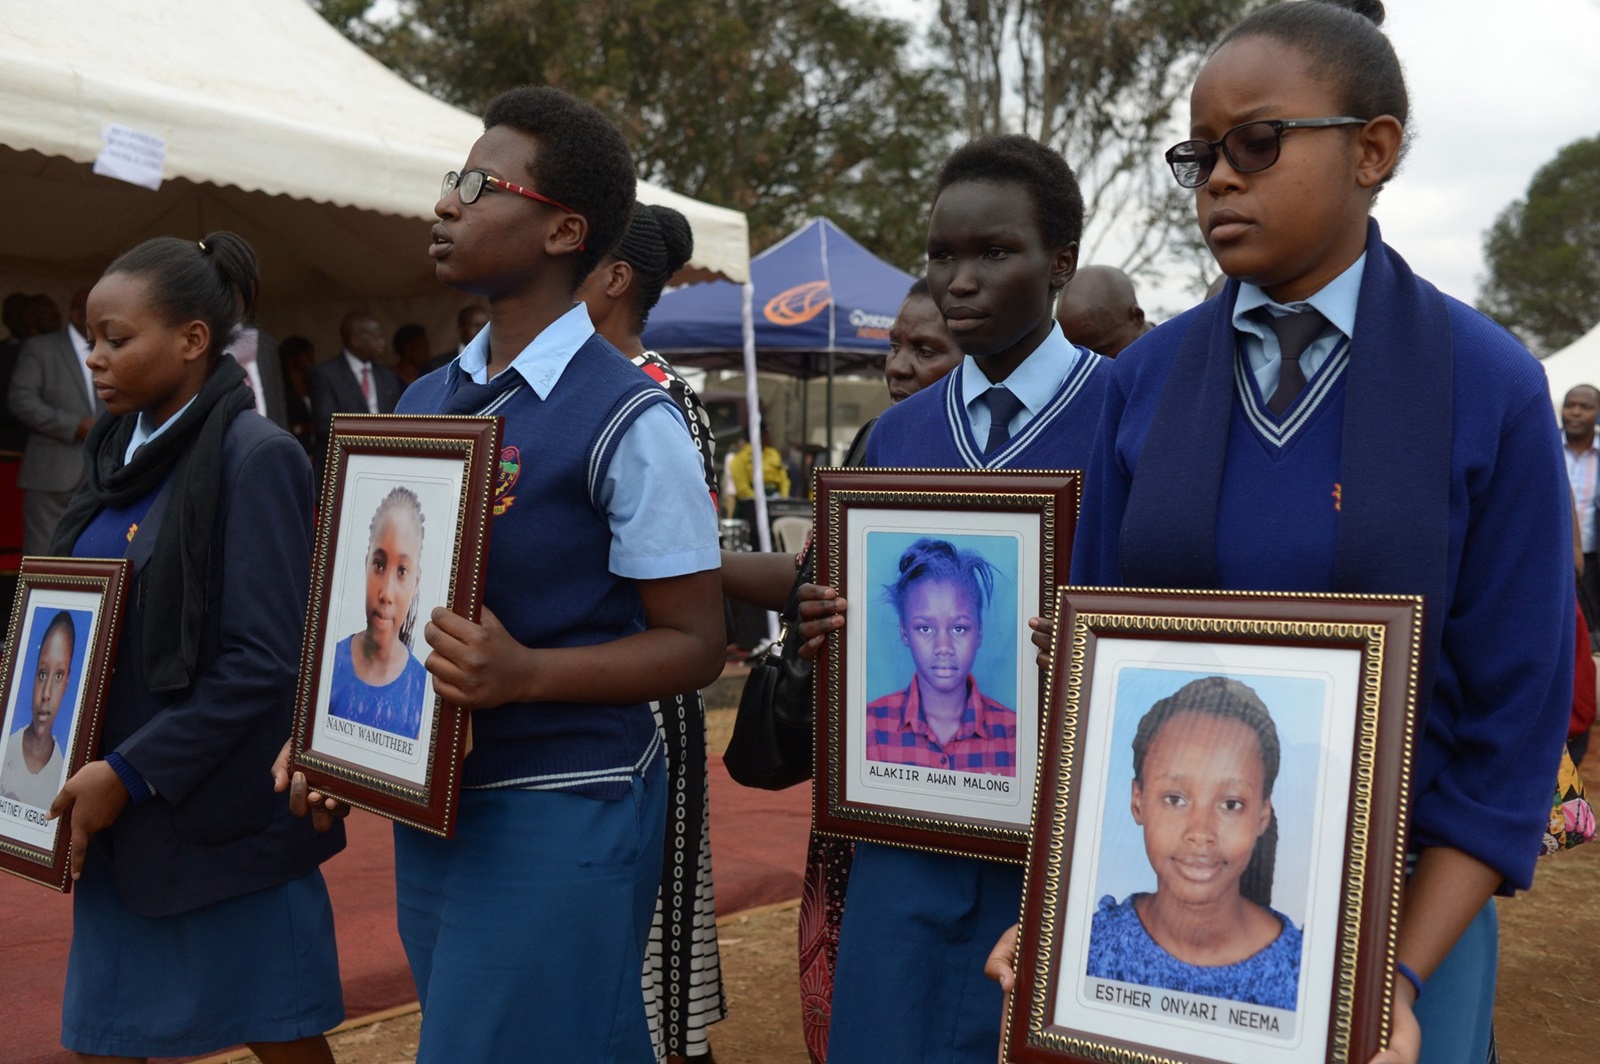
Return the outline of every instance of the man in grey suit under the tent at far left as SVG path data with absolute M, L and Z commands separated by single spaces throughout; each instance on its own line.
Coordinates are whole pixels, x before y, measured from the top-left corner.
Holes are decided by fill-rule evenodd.
M 67 499 L 83 480 L 83 437 L 106 405 L 90 381 L 85 323 L 88 288 L 72 293 L 67 328 L 22 344 L 6 405 L 27 427 L 18 486 L 22 488 L 22 550 L 45 554 Z

